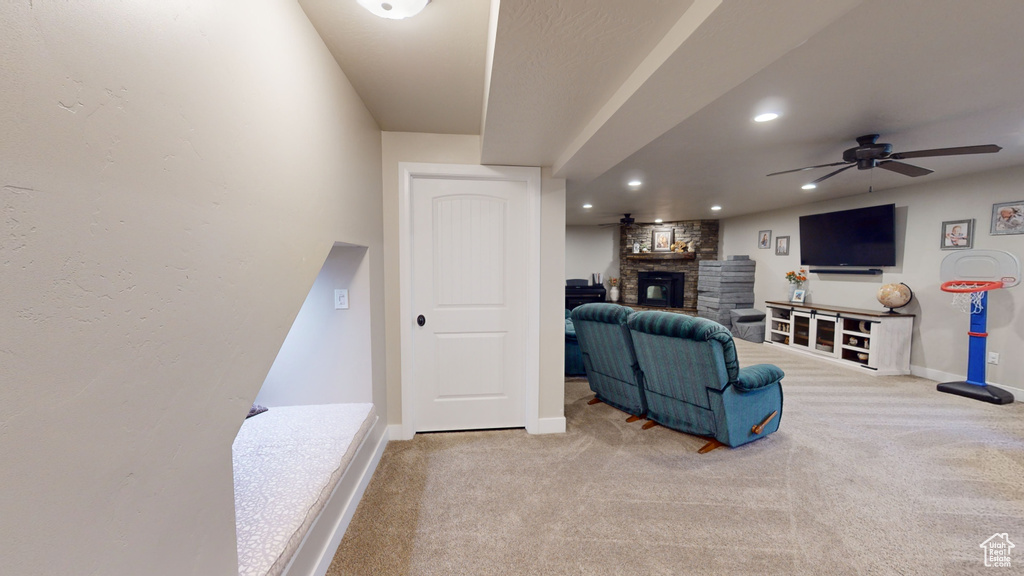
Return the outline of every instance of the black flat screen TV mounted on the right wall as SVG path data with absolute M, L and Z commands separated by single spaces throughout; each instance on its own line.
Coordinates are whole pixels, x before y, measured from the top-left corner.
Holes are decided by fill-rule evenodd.
M 896 265 L 896 205 L 801 216 L 800 263 L 818 266 Z

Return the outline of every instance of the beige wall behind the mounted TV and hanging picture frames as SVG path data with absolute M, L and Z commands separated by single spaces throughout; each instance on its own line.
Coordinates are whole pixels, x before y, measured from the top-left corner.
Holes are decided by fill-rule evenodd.
M 952 379 L 967 374 L 967 330 L 970 317 L 950 306 L 950 294 L 939 290 L 939 264 L 949 254 L 939 248 L 944 220 L 974 218 L 974 247 L 1005 250 L 1024 261 L 1024 235 L 990 236 L 992 204 L 1024 200 L 1020 182 L 1024 168 L 1011 168 L 973 174 L 948 180 L 921 183 L 860 194 L 829 202 L 807 204 L 754 216 L 730 218 L 722 222 L 723 257 L 750 254 L 758 261 L 755 297 L 757 307 L 764 300 L 785 299 L 786 271 L 800 266 L 799 218 L 805 214 L 831 212 L 861 206 L 896 204 L 896 265 L 884 269 L 882 276 L 811 275 L 805 286 L 812 303 L 829 303 L 884 310 L 876 300 L 883 284 L 904 282 L 913 290 L 915 300 L 904 312 L 916 315 L 910 364 L 913 372 L 934 379 Z M 788 256 L 776 256 L 774 250 L 759 250 L 760 230 L 771 230 L 774 237 L 790 236 Z M 1024 285 L 991 292 L 989 296 L 988 349 L 999 352 L 997 366 L 988 366 L 988 381 L 1024 388 Z

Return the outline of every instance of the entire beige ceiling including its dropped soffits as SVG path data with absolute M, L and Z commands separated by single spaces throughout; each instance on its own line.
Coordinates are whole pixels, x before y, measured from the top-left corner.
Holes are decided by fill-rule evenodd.
M 1024 164 L 1019 0 L 501 0 L 497 22 L 498 0 L 406 20 L 300 4 L 383 130 L 481 134 L 485 164 L 552 166 L 569 224 L 731 217 Z M 767 109 L 780 118 L 753 122 Z M 828 168 L 766 176 L 837 162 L 868 133 L 894 152 L 1004 150 L 811 192 Z

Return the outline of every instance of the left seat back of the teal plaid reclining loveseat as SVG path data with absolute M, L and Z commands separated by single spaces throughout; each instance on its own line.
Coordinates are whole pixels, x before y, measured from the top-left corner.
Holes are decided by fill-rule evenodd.
M 647 405 L 643 374 L 626 326 L 632 312 L 618 304 L 589 303 L 573 308 L 571 317 L 587 380 L 597 396 L 591 404 L 604 402 L 632 414 L 630 421 L 635 421 L 644 415 Z

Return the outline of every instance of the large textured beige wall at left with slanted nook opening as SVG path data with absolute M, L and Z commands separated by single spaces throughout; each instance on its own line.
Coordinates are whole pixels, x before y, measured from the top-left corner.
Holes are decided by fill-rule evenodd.
M 3 2 L 0 53 L 2 571 L 233 574 L 249 404 L 336 241 L 383 281 L 380 131 L 294 2 Z

